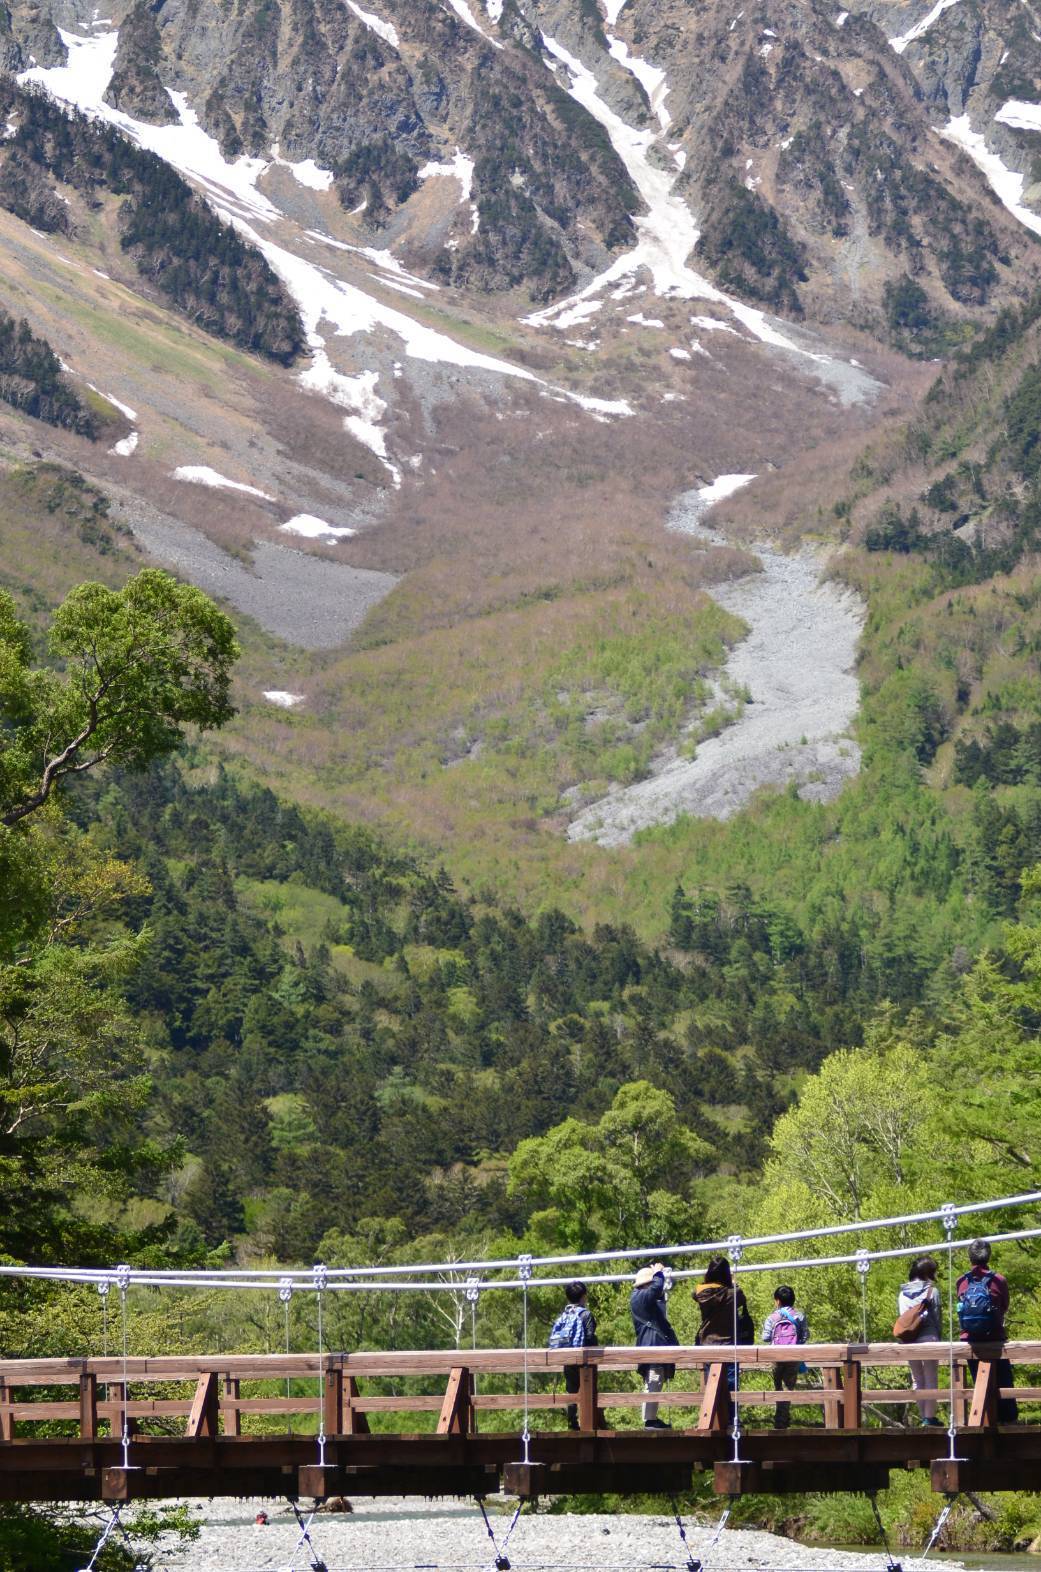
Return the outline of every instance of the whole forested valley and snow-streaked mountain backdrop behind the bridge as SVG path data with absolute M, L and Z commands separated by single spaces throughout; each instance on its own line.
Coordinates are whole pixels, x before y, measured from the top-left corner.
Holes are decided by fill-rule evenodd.
M 0 0 L 0 1253 L 1028 1188 L 1039 550 L 1035 0 Z

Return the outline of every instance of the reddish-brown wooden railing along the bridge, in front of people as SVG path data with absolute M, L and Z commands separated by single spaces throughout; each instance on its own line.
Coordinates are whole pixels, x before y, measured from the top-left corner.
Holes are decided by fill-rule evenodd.
M 977 1349 L 959 1342 L 953 1353 L 955 1423 L 959 1427 L 992 1427 L 999 1396 L 1014 1393 L 1021 1401 L 1041 1401 L 1038 1387 L 999 1390 L 995 1363 L 1006 1358 L 1013 1366 L 1041 1366 L 1041 1342 L 981 1344 Z M 866 1379 L 868 1372 L 877 1380 L 879 1371 L 906 1371 L 909 1358 L 937 1360 L 945 1374 L 950 1358 L 947 1342 L 660 1350 L 609 1347 L 528 1350 L 527 1407 L 543 1412 L 574 1402 L 582 1431 L 605 1431 L 607 1410 L 634 1409 L 645 1401 L 640 1390 L 621 1390 L 609 1385 L 607 1379 L 632 1372 L 637 1364 L 656 1357 L 676 1366 L 675 1382 L 656 1401 L 664 1409 L 692 1410 L 689 1429 L 700 1432 L 722 1429 L 726 1423 L 726 1366 L 733 1363 L 741 1368 L 744 1380 L 736 1394 L 742 1410 L 769 1409 L 777 1402 L 819 1407 L 826 1427 L 837 1432 L 862 1429 L 868 1407 L 882 1410 L 920 1398 L 936 1398 L 944 1404 L 951 1399 L 947 1387 L 914 1391 L 906 1385 L 873 1387 Z M 980 1361 L 972 1383 L 967 1371 L 970 1358 Z M 774 1390 L 772 1366 L 789 1363 L 807 1364 L 807 1385 L 794 1391 Z M 550 1379 L 560 1379 L 565 1366 L 579 1368 L 576 1394 L 546 1390 Z M 525 1355 L 517 1349 L 327 1353 L 321 1360 L 316 1353 L 157 1357 L 129 1360 L 124 1388 L 120 1358 L 5 1360 L 0 1361 L 0 1442 L 11 1442 L 19 1434 L 39 1434 L 36 1426 L 57 1421 L 63 1427 L 74 1426 L 83 1440 L 120 1435 L 124 1420 L 134 1431 L 149 1426 L 165 1434 L 173 1432 L 176 1421 L 176 1434 L 198 1438 L 241 1435 L 244 1418 L 255 1416 L 296 1418 L 318 1427 L 319 1404 L 327 1435 L 368 1434 L 368 1416 L 384 1413 L 436 1413 L 437 1434 L 469 1435 L 478 1426 L 481 1432 L 487 1429 L 480 1424 L 480 1415 L 517 1415 L 524 1402 L 519 1390 L 524 1368 Z M 755 1376 L 760 1379 L 753 1380 Z M 500 1385 L 506 1377 L 513 1391 L 484 1390 L 489 1380 Z M 395 1380 L 436 1385 L 439 1390 L 363 1390 L 363 1383 L 368 1388 L 373 1382 Z M 297 1383 L 297 1390 L 272 1394 L 272 1387 L 285 1387 L 286 1382 Z M 311 1391 L 300 1391 L 300 1383 L 311 1385 Z M 182 1390 L 170 1391 L 170 1387 Z M 68 1398 L 57 1396 L 69 1388 Z M 182 1429 L 179 1421 L 184 1421 Z M 27 1432 L 27 1426 L 33 1429 Z M 264 1429 L 270 1432 L 272 1426 Z

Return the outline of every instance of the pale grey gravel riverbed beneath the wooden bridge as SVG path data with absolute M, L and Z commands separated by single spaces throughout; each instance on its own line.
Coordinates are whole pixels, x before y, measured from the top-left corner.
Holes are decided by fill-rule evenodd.
M 311 1520 L 311 1545 L 286 1503 L 201 1501 L 204 1528 L 187 1552 L 165 1561 L 168 1572 L 307 1572 L 315 1561 L 327 1572 L 414 1572 L 414 1569 L 475 1569 L 494 1566 L 495 1552 L 473 1501 L 355 1500 L 351 1514 L 319 1514 Z M 256 1525 L 266 1511 L 269 1523 Z M 489 1503 L 500 1542 L 513 1503 Z M 687 1545 L 704 1572 L 885 1572 L 882 1550 L 841 1552 L 807 1548 L 778 1534 L 725 1530 L 714 1542 L 715 1525 L 687 1520 Z M 557 1515 L 525 1509 L 508 1545 L 513 1572 L 649 1572 L 689 1566 L 671 1517 Z M 904 1569 L 914 1563 L 901 1558 Z M 947 1563 L 950 1567 L 951 1563 Z

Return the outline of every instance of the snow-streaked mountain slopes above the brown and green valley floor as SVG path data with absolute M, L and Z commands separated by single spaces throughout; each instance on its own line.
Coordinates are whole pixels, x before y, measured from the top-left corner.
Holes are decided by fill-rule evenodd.
M 181 171 L 305 349 L 203 365 L 204 313 L 167 319 L 129 267 L 118 185 L 25 167 L 17 108 L 0 305 L 140 413 L 77 462 L 237 547 L 404 571 L 415 536 L 370 525 L 410 528 L 459 453 L 491 464 L 533 426 L 607 424 L 623 470 L 651 423 L 676 490 L 763 473 L 899 402 L 903 352 L 942 355 L 1035 286 L 1036 38 L 1022 5 L 962 3 L 17 0 L 0 63 Z M 190 365 L 126 336 L 134 300 Z

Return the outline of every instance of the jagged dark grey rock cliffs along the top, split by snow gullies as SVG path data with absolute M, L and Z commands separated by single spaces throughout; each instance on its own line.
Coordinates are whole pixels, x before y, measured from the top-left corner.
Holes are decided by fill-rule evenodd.
M 75 22 L 79 3 L 60 0 L 55 19 Z M 135 0 L 115 17 L 107 102 L 162 124 L 182 93 L 226 157 L 275 149 L 327 170 L 368 244 L 451 286 L 535 302 L 635 244 L 638 148 L 725 291 L 937 354 L 1038 272 L 1036 241 L 940 132 L 964 113 L 986 121 L 1028 184 L 1036 134 L 1000 108 L 1041 96 L 1041 31 L 1019 0 L 955 0 L 931 22 L 918 11 Z M 47 28 L 16 0 L 0 50 L 20 63 L 33 30 L 53 49 Z M 432 201 L 431 173 L 454 173 L 461 200 Z

